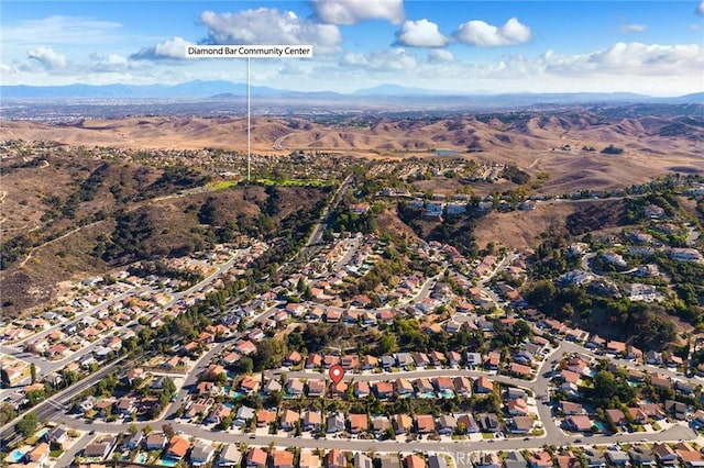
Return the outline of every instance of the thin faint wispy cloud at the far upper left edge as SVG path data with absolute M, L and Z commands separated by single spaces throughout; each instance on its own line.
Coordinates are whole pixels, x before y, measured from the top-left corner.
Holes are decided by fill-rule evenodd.
M 26 20 L 3 24 L 3 44 L 14 45 L 87 45 L 119 40 L 120 23 L 91 18 L 53 15 L 42 20 Z

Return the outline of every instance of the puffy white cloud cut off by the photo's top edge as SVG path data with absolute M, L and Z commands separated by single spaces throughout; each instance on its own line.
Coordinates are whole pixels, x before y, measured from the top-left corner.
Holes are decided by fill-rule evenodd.
M 404 21 L 403 0 L 312 0 L 316 16 L 323 23 L 356 24 L 366 20 Z

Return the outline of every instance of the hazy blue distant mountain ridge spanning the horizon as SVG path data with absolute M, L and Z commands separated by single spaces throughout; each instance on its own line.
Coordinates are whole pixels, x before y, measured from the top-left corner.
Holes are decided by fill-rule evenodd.
M 380 85 L 359 89 L 351 93 L 334 91 L 293 91 L 265 86 L 252 86 L 254 97 L 288 99 L 323 99 L 350 101 L 366 98 L 404 97 L 413 100 L 462 98 L 470 102 L 494 102 L 512 104 L 534 103 L 586 103 L 586 102 L 657 102 L 704 103 L 704 92 L 671 98 L 656 98 L 631 92 L 542 92 L 542 93 L 486 93 L 439 91 L 399 85 Z M 65 85 L 65 86 L 0 86 L 2 99 L 237 99 L 246 96 L 246 83 L 224 80 L 195 80 L 178 85 Z

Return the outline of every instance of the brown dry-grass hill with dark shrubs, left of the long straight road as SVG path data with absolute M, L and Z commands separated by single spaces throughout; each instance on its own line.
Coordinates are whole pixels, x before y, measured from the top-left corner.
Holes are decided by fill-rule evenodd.
M 6 313 L 47 301 L 68 279 L 186 255 L 240 234 L 295 231 L 301 213 L 327 196 L 304 187 L 208 189 L 210 176 L 200 169 L 84 158 L 76 148 L 64 149 L 38 161 L 2 161 Z

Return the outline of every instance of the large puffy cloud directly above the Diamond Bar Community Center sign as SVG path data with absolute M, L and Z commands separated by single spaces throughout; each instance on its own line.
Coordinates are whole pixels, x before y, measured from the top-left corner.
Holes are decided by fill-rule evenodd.
M 208 41 L 213 44 L 311 44 L 316 54 L 337 52 L 342 42 L 333 24 L 319 24 L 273 8 L 221 14 L 205 11 L 200 22 L 208 27 Z

